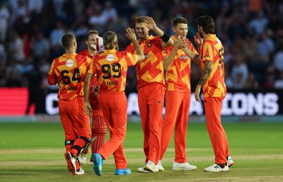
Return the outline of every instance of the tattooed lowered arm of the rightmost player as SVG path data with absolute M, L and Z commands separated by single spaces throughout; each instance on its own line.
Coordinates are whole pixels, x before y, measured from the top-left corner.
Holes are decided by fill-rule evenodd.
M 197 84 L 197 88 L 195 89 L 195 100 L 200 102 L 200 89 L 202 85 L 207 81 L 209 75 L 212 73 L 213 62 L 205 62 L 204 70 L 202 72 L 202 76 L 200 77 L 200 81 Z

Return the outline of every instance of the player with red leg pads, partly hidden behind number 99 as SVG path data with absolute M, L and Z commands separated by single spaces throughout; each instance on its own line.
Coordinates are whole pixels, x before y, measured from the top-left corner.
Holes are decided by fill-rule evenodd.
M 86 47 L 85 50 L 82 52 L 79 52 L 79 55 L 85 55 L 91 59 L 95 55 L 98 54 L 99 50 L 99 44 L 97 42 L 99 38 L 99 32 L 97 30 L 89 30 L 88 34 L 86 35 Z M 90 93 L 89 93 L 89 103 L 91 103 L 91 108 L 93 110 L 93 123 L 91 127 L 91 137 L 96 137 L 96 140 L 94 140 L 91 143 L 91 154 L 98 152 L 98 149 L 104 144 L 105 137 L 106 137 L 106 123 L 103 118 L 103 113 L 100 107 L 100 103 L 98 101 L 97 96 L 97 87 L 98 87 L 98 81 L 96 78 L 96 75 L 91 78 L 91 84 L 90 84 Z M 85 154 L 88 153 L 88 150 L 86 150 Z M 79 160 L 81 164 L 84 164 L 86 162 L 85 154 L 81 154 L 79 157 Z M 92 158 L 91 158 L 92 161 Z

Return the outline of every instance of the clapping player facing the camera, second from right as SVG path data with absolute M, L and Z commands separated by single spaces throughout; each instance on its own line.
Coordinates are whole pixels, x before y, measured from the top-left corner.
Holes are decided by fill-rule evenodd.
M 196 166 L 187 163 L 186 137 L 187 120 L 190 109 L 190 65 L 191 59 L 186 55 L 187 49 L 192 52 L 197 51 L 187 36 L 187 20 L 183 17 L 175 18 L 173 21 L 173 32 L 171 36 L 175 45 L 164 50 L 166 59 L 164 60 L 164 69 L 166 72 L 166 111 L 162 121 L 161 135 L 161 154 L 160 160 L 166 152 L 171 135 L 175 127 L 175 159 L 173 161 L 173 170 L 195 170 Z M 198 59 L 192 59 L 200 64 Z M 158 163 L 161 168 L 162 162 Z M 162 167 L 163 168 L 163 167 Z M 162 169 L 161 168 L 161 169 Z

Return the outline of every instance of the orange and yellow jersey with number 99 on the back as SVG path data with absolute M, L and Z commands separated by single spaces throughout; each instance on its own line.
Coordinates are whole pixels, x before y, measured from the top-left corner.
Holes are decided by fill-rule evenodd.
M 137 63 L 137 55 L 116 50 L 104 50 L 93 58 L 88 73 L 97 74 L 98 93 L 125 91 L 127 69 Z

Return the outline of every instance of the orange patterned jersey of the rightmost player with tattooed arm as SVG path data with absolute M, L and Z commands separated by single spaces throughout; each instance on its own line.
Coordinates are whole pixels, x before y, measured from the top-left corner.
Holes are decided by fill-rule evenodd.
M 202 86 L 204 97 L 226 96 L 224 82 L 224 47 L 216 35 L 211 35 L 202 44 L 202 72 L 205 62 L 213 62 L 212 73 Z

